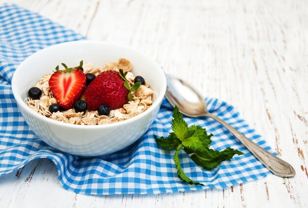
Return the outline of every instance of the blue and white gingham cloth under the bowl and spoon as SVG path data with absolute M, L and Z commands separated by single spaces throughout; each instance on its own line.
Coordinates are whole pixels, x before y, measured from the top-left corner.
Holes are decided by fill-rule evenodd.
M 15 172 L 29 161 L 49 158 L 59 170 L 62 186 L 83 194 L 147 194 L 198 189 L 223 189 L 271 173 L 233 136 L 213 119 L 185 118 L 188 125 L 205 126 L 215 136 L 213 149 L 239 149 L 213 170 L 197 166 L 184 151 L 182 167 L 188 177 L 203 184 L 190 185 L 178 178 L 174 150 L 157 147 L 153 134 L 168 136 L 173 108 L 166 100 L 150 129 L 136 143 L 102 158 L 80 158 L 51 148 L 42 142 L 21 116 L 11 90 L 14 70 L 32 53 L 50 45 L 84 39 L 80 34 L 51 22 L 36 13 L 12 4 L 0 6 L 0 175 Z M 230 105 L 206 99 L 211 113 L 234 126 L 248 138 L 272 151 L 266 142 L 239 117 Z

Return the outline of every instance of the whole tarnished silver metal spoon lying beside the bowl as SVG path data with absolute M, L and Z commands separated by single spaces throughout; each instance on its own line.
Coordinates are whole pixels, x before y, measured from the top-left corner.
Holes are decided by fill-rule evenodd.
M 261 148 L 241 134 L 235 128 L 230 126 L 224 120 L 219 119 L 213 114 L 207 112 L 207 106 L 204 98 L 200 93 L 191 87 L 185 81 L 178 79 L 172 75 L 167 75 L 167 90 L 165 97 L 172 106 L 177 105 L 179 111 L 188 117 L 210 117 L 217 120 L 226 127 L 238 140 L 240 140 L 247 149 L 273 174 L 279 177 L 295 176 L 294 168 L 287 162 L 278 158 L 266 149 Z

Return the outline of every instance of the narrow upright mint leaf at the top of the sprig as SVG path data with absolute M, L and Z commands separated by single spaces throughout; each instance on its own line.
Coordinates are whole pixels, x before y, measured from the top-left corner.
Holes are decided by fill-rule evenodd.
M 175 135 L 183 141 L 185 138 L 185 134 L 187 134 L 188 127 L 187 123 L 183 119 L 183 115 L 179 112 L 179 109 L 177 106 L 174 107 L 173 115 L 172 115 L 172 130 L 175 133 Z

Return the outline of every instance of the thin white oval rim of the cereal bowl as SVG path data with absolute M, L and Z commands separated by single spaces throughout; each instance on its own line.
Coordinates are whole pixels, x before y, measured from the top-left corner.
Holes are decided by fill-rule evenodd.
M 107 123 L 107 124 L 102 124 L 102 125 L 78 125 L 78 124 L 72 124 L 72 123 L 64 123 L 62 121 L 58 121 L 58 120 L 54 120 L 54 119 L 50 119 L 47 117 L 44 117 L 43 115 L 40 115 L 36 112 L 34 112 L 25 102 L 24 100 L 21 98 L 21 95 L 19 92 L 16 91 L 16 88 L 14 87 L 14 83 L 16 82 L 16 76 L 15 74 L 18 74 L 18 72 L 21 70 L 21 68 L 23 67 L 23 65 L 25 64 L 25 62 L 27 62 L 29 59 L 31 59 L 33 56 L 36 56 L 39 53 L 44 53 L 44 51 L 49 50 L 50 48 L 56 48 L 59 46 L 65 46 L 65 45 L 70 45 L 70 44 L 76 44 L 76 43 L 91 43 L 91 44 L 104 44 L 104 45 L 112 45 L 112 46 L 118 46 L 118 47 L 122 47 L 124 49 L 130 50 L 134 53 L 136 53 L 138 56 L 144 57 L 150 61 L 153 62 L 154 65 L 157 66 L 157 68 L 160 68 L 161 73 L 163 76 L 161 76 L 162 80 L 160 80 L 160 84 L 162 85 L 164 92 L 163 93 L 157 93 L 158 96 L 156 98 L 156 100 L 153 102 L 153 104 L 150 106 L 149 109 L 147 109 L 146 111 L 142 112 L 141 114 L 130 118 L 130 119 L 126 119 L 126 120 L 122 120 L 119 122 L 115 122 L 115 123 Z M 17 73 L 16 73 L 17 72 Z M 154 61 L 153 59 L 151 59 L 149 56 L 142 54 L 138 51 L 136 51 L 135 49 L 132 49 L 130 47 L 127 46 L 123 46 L 121 44 L 117 44 L 117 43 L 111 43 L 111 42 L 107 42 L 107 41 L 96 41 L 96 40 L 77 40 L 77 41 L 69 41 L 69 42 L 64 42 L 64 43 L 59 43 L 56 45 L 52 45 L 46 48 L 43 48 L 35 53 L 33 53 L 32 55 L 30 55 L 29 57 L 27 57 L 26 59 L 24 59 L 19 66 L 16 68 L 13 77 L 12 77 L 12 92 L 14 95 L 15 100 L 17 101 L 17 104 L 19 106 L 19 108 L 22 108 L 23 110 L 25 110 L 28 114 L 30 114 L 31 116 L 35 117 L 36 119 L 40 119 L 44 122 L 47 122 L 49 124 L 54 124 L 54 125 L 59 125 L 62 127 L 67 127 L 67 128 L 73 128 L 73 129 L 87 129 L 87 130 L 92 130 L 92 129 L 105 129 L 105 128 L 110 128 L 110 127 L 117 127 L 119 125 L 125 125 L 128 123 L 132 123 L 136 120 L 138 120 L 141 117 L 144 117 L 148 114 L 150 114 L 158 105 L 160 105 L 160 103 L 163 100 L 163 97 L 165 95 L 165 91 L 167 88 L 167 83 L 166 83 L 166 76 L 164 71 L 162 70 L 162 68 L 158 65 L 158 63 L 156 61 Z

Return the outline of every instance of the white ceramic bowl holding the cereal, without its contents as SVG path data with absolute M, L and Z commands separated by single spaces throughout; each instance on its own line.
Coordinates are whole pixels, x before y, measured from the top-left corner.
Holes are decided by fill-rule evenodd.
M 74 66 L 84 60 L 94 67 L 103 67 L 106 62 L 120 58 L 129 59 L 132 72 L 144 77 L 154 90 L 153 105 L 136 117 L 104 125 L 76 125 L 39 115 L 25 103 L 28 90 L 62 62 Z M 54 45 L 25 59 L 14 73 L 12 90 L 26 122 L 45 143 L 70 154 L 98 156 L 127 147 L 148 130 L 164 97 L 166 78 L 160 66 L 141 53 L 116 44 L 86 40 Z

